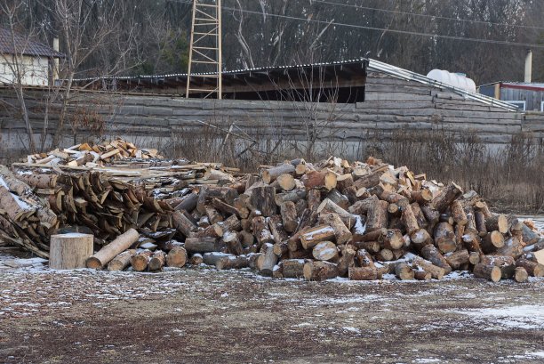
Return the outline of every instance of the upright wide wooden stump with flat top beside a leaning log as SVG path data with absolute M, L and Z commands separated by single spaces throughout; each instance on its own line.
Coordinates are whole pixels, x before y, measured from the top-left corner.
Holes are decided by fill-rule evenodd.
M 92 244 L 90 234 L 74 232 L 52 235 L 49 267 L 60 270 L 85 268 L 85 260 L 92 255 Z

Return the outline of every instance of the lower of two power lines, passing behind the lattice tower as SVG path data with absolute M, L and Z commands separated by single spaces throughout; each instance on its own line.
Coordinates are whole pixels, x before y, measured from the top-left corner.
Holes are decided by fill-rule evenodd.
M 318 0 L 315 0 L 315 1 L 318 1 Z M 175 2 L 180 3 L 180 4 L 193 4 L 193 2 L 190 1 L 190 0 L 176 0 Z M 436 38 L 468 41 L 468 42 L 475 42 L 475 43 L 488 43 L 488 44 L 523 46 L 523 47 L 526 47 L 526 48 L 531 48 L 531 47 L 532 48 L 544 48 L 544 44 L 508 42 L 506 40 L 482 39 L 482 38 L 473 38 L 473 37 L 467 37 L 467 36 L 445 36 L 445 35 L 434 34 L 434 33 L 424 33 L 424 32 L 416 32 L 416 31 L 409 31 L 409 30 L 378 28 L 378 27 L 368 27 L 368 26 L 364 26 L 364 25 L 338 23 L 338 22 L 329 21 L 329 20 L 307 19 L 307 18 L 300 18 L 300 17 L 291 16 L 291 15 L 274 14 L 274 13 L 270 13 L 270 12 L 254 12 L 252 10 L 237 9 L 237 8 L 233 8 L 233 7 L 229 7 L 229 6 L 221 6 L 221 8 L 224 9 L 224 10 L 232 11 L 232 12 L 244 12 L 244 13 L 259 15 L 259 16 L 267 15 L 267 16 L 273 17 L 273 18 L 282 18 L 282 19 L 289 19 L 289 20 L 300 20 L 300 21 L 304 21 L 304 22 L 324 24 L 324 25 L 335 25 L 335 26 L 338 26 L 338 27 L 345 27 L 345 28 L 358 28 L 358 29 L 366 29 L 366 30 L 386 31 L 386 32 L 389 32 L 389 33 L 404 34 L 404 35 L 410 35 L 410 36 L 428 36 L 428 37 L 431 37 L 431 38 L 436 37 Z

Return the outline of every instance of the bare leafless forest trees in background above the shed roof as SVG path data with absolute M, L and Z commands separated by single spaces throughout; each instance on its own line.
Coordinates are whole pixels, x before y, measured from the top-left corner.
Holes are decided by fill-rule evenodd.
M 20 4 L 20 32 L 48 44 L 59 36 L 61 52 L 78 53 L 74 77 L 187 71 L 188 0 L 0 1 Z M 484 84 L 523 80 L 526 47 L 414 33 L 544 45 L 540 0 L 223 0 L 223 6 L 225 69 L 368 54 L 424 74 L 464 72 Z M 0 14 L 3 27 L 5 18 Z M 544 49 L 533 53 L 533 78 L 544 81 Z

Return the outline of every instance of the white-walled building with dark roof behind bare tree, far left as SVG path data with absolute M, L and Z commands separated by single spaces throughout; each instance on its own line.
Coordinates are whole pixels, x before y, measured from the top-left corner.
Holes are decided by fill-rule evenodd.
M 57 43 L 58 44 L 58 43 Z M 0 84 L 50 85 L 64 55 L 10 29 L 0 28 Z

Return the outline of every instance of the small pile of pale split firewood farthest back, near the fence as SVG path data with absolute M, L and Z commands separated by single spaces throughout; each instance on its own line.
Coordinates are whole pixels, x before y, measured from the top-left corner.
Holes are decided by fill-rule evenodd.
M 163 158 L 153 149 L 138 149 L 132 142 L 116 139 L 91 145 L 82 143 L 48 153 L 29 155 L 24 161 L 33 165 L 98 166 L 124 158 Z

